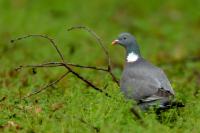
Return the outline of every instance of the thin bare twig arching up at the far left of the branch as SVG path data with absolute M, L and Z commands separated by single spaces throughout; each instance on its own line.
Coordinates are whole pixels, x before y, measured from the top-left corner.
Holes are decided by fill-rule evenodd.
M 60 50 L 58 49 L 58 46 L 56 45 L 56 43 L 53 41 L 52 38 L 49 38 L 46 35 L 32 34 L 32 35 L 27 35 L 27 36 L 23 36 L 23 37 L 19 37 L 19 38 L 13 39 L 10 42 L 14 43 L 16 41 L 23 40 L 23 39 L 26 39 L 26 38 L 29 38 L 29 37 L 41 37 L 41 38 L 47 39 L 53 45 L 53 47 L 56 49 L 56 51 L 59 54 L 61 60 L 64 62 L 64 57 L 63 57 L 62 53 L 60 52 Z

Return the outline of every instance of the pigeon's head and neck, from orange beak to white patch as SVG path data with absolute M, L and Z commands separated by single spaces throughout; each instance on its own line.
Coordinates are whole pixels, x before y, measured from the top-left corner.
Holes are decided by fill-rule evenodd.
M 130 33 L 121 33 L 118 38 L 112 42 L 112 44 L 119 44 L 126 49 L 126 60 L 128 62 L 134 62 L 141 57 L 140 48 L 137 45 L 136 39 Z

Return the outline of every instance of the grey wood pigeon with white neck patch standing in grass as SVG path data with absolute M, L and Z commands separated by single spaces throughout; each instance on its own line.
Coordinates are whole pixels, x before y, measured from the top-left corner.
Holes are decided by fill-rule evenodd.
M 128 99 L 134 99 L 142 110 L 150 107 L 169 108 L 175 92 L 164 71 L 147 60 L 130 33 L 121 33 L 113 45 L 126 50 L 126 63 L 120 79 L 120 89 Z

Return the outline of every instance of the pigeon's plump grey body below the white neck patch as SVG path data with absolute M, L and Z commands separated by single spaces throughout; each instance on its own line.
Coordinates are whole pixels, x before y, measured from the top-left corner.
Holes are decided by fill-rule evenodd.
M 126 97 L 136 101 L 148 102 L 174 95 L 165 73 L 143 58 L 126 63 L 120 88 Z

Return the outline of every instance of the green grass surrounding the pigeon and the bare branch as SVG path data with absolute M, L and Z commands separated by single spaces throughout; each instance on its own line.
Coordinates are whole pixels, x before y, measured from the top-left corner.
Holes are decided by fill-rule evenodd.
M 200 132 L 200 2 L 140 1 L 0 1 L 0 131 L 2 132 Z M 21 64 L 58 61 L 54 49 L 43 39 L 27 39 L 12 45 L 13 38 L 46 34 L 55 39 L 68 62 L 106 66 L 96 41 L 84 31 L 67 32 L 86 25 L 107 44 L 115 75 L 123 70 L 124 51 L 110 42 L 123 31 L 134 34 L 143 56 L 167 73 L 176 99 L 186 107 L 169 110 L 161 120 L 140 112 L 145 125 L 136 120 L 119 88 L 108 75 L 75 69 L 112 95 L 87 87 L 68 75 L 56 86 L 20 98 L 56 79 L 65 69 L 37 69 L 37 74 L 14 68 Z

